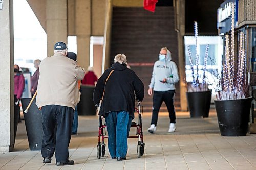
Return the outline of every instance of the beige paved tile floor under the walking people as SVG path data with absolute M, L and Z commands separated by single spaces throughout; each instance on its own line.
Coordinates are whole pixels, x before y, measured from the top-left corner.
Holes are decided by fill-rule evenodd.
M 169 134 L 168 115 L 161 113 L 156 134 L 146 129 L 149 113 L 143 115 L 145 154 L 137 158 L 137 139 L 129 139 L 126 161 L 106 156 L 97 159 L 97 116 L 79 117 L 78 135 L 72 136 L 71 166 L 43 164 L 39 151 L 30 151 L 24 122 L 18 125 L 14 152 L 0 153 L 0 169 L 256 169 L 256 135 L 222 137 L 217 117 L 189 118 L 187 112 L 177 113 L 177 131 Z M 134 130 L 131 129 L 131 135 Z

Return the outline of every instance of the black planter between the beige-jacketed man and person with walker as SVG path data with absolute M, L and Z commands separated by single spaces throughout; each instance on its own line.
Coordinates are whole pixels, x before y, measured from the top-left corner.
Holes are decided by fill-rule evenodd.
M 78 115 L 96 115 L 96 106 L 93 102 L 94 86 L 81 86 L 81 98 L 78 103 Z

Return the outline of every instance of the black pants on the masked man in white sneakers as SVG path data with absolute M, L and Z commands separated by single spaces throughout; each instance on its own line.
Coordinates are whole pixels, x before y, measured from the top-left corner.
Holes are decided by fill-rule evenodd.
M 153 113 L 151 124 L 157 126 L 158 112 L 164 101 L 169 112 L 170 123 L 176 123 L 176 115 L 174 109 L 174 94 L 175 90 L 170 91 L 154 91 L 153 95 Z

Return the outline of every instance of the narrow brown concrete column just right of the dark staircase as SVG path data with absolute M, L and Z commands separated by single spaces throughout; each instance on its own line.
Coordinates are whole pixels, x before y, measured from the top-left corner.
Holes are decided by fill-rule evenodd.
M 184 54 L 184 35 L 185 35 L 185 0 L 175 0 L 176 31 L 178 32 L 178 55 L 179 55 L 179 75 L 180 75 L 180 107 L 181 111 L 187 111 L 187 99 L 185 84 L 185 54 Z

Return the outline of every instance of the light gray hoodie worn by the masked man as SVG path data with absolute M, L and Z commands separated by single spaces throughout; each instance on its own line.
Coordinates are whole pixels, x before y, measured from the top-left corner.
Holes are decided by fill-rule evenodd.
M 168 91 L 175 90 L 175 83 L 177 83 L 179 78 L 178 68 L 175 62 L 171 61 L 172 56 L 170 51 L 167 50 L 167 56 L 165 61 L 156 61 L 154 64 L 150 88 L 153 88 L 154 91 Z M 166 79 L 166 83 L 160 82 L 163 79 Z

